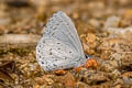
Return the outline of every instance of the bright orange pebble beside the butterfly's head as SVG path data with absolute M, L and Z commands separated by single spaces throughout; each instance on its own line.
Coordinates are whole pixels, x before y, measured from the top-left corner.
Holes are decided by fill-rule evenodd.
M 94 59 L 94 58 L 89 58 L 87 62 L 86 62 L 86 64 L 84 65 L 84 67 L 86 67 L 86 68 L 89 68 L 89 67 L 91 67 L 91 68 L 97 68 L 97 61 L 96 59 Z

